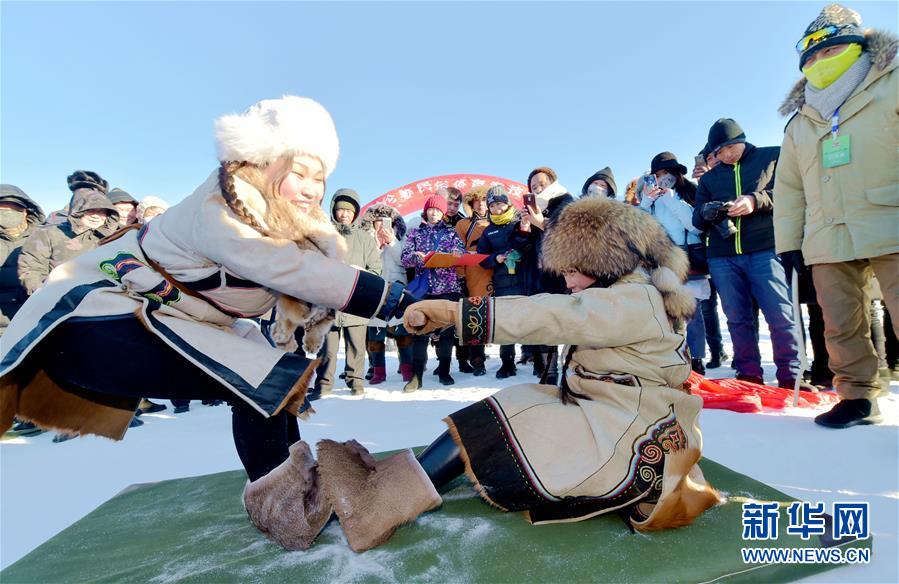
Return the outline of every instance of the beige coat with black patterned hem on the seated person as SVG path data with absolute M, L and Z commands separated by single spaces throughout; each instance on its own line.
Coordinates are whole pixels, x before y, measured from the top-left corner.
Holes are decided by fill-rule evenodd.
M 533 473 L 531 485 L 547 501 L 570 497 L 607 499 L 601 511 L 567 520 L 586 519 L 629 505 L 640 506 L 649 492 L 623 499 L 634 475 L 655 473 L 644 465 L 640 447 L 654 441 L 657 459 L 664 455 L 659 504 L 646 504 L 634 521 L 637 529 L 685 525 L 718 502 L 695 464 L 702 450 L 699 413 L 702 399 L 682 389 L 690 373 L 684 338 L 674 332 L 659 291 L 642 269 L 609 288 L 572 295 L 539 294 L 485 299 L 492 307 L 490 342 L 497 344 L 576 345 L 567 367 L 569 387 L 589 399 L 563 404 L 559 388 L 522 384 L 500 390 L 494 400 L 518 460 Z M 460 306 L 463 306 L 460 304 Z M 462 314 L 456 326 L 466 324 Z M 569 347 L 562 352 L 567 355 Z M 452 416 L 447 418 L 456 433 Z M 664 430 L 660 430 L 664 428 Z M 661 436 L 660 436 L 661 433 Z M 489 489 L 472 472 L 482 496 L 496 504 Z M 661 474 L 661 473 L 658 473 Z M 632 491 L 631 491 L 632 492 Z M 502 507 L 502 505 L 498 505 Z M 532 515 L 529 519 L 540 522 Z

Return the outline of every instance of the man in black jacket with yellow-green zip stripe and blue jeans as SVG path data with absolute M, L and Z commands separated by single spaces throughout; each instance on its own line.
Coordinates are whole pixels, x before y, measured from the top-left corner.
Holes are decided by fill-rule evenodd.
M 790 291 L 774 253 L 772 214 L 780 148 L 749 144 L 730 118 L 712 125 L 708 148 L 719 164 L 699 181 L 693 225 L 708 234 L 709 272 L 727 315 L 737 379 L 764 383 L 754 300 L 771 332 L 778 385 L 792 389 L 802 372 Z

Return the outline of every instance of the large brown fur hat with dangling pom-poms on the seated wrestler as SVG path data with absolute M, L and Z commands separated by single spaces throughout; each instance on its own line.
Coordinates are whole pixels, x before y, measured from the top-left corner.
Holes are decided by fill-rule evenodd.
M 652 215 L 614 199 L 590 197 L 565 207 L 546 234 L 542 259 L 554 274 L 577 270 L 609 283 L 643 268 L 671 320 L 689 319 L 696 309 L 684 286 L 687 254 Z

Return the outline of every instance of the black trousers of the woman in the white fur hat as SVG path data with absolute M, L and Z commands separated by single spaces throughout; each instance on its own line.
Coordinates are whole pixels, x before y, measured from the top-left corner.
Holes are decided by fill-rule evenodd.
M 73 391 L 160 399 L 221 399 L 231 405 L 237 455 L 256 480 L 284 462 L 300 439 L 297 419 L 266 418 L 243 399 L 182 358 L 133 317 L 69 321 L 33 354 L 55 383 Z

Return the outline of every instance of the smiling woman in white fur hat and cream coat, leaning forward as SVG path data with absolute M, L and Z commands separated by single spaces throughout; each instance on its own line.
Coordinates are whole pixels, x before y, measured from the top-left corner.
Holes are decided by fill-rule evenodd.
M 292 345 L 302 325 L 312 349 L 333 309 L 389 320 L 409 298 L 402 284 L 340 261 L 342 238 L 319 206 L 338 156 L 320 104 L 261 101 L 218 119 L 216 141 L 221 166 L 191 196 L 60 266 L 21 308 L 0 344 L 0 431 L 16 416 L 118 440 L 143 396 L 225 399 L 238 455 L 256 481 L 246 494 L 251 518 L 285 547 L 303 547 L 252 499 L 292 444 L 291 459 L 311 464 L 295 416 L 311 412 L 314 363 L 273 348 L 245 317 L 278 302 L 291 319 L 281 344 Z M 123 378 L 84 366 L 98 355 L 154 367 Z M 323 524 L 330 508 L 307 499 L 310 521 Z M 289 509 L 280 516 L 292 517 Z

